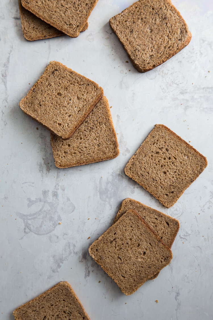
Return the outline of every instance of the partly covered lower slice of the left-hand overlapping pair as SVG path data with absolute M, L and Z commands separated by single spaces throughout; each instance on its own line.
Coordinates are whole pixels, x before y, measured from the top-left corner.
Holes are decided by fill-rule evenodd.
M 50 133 L 55 165 L 68 168 L 114 159 L 119 155 L 108 100 L 103 97 L 69 140 Z

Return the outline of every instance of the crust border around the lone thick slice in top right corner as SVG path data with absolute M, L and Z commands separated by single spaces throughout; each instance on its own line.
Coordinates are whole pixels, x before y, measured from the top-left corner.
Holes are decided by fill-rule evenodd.
M 110 19 L 110 21 L 109 21 L 110 28 L 112 29 L 113 33 L 115 33 L 116 36 L 118 37 L 118 40 L 119 40 L 119 42 L 121 43 L 121 45 L 123 46 L 124 50 L 126 51 L 129 60 L 130 60 L 130 61 L 132 62 L 132 64 L 133 64 L 133 67 L 134 67 L 137 71 L 139 71 L 139 72 L 144 73 L 144 72 L 147 72 L 147 71 L 152 70 L 153 68 L 156 68 L 157 66 L 161 65 L 162 63 L 164 63 L 165 61 L 167 61 L 167 60 L 169 60 L 171 57 L 173 57 L 175 54 L 177 54 L 178 52 L 180 52 L 180 51 L 181 51 L 183 48 L 185 48 L 186 45 L 188 45 L 189 42 L 191 41 L 191 38 L 192 38 L 191 32 L 188 30 L 188 26 L 187 26 L 186 22 L 184 21 L 184 19 L 182 18 L 180 12 L 175 8 L 175 6 L 171 3 L 170 0 L 166 0 L 166 1 L 167 1 L 168 4 L 171 6 L 171 9 L 175 10 L 175 12 L 177 13 L 179 19 L 184 22 L 185 28 L 186 28 L 186 32 L 187 32 L 187 35 L 188 35 L 188 36 L 187 36 L 186 40 L 184 41 L 184 43 L 182 44 L 182 46 L 181 46 L 178 50 L 173 50 L 173 51 L 171 51 L 170 54 L 169 54 L 169 56 L 168 56 L 168 57 L 165 57 L 161 62 L 155 64 L 155 67 L 150 67 L 150 68 L 143 68 L 143 67 L 141 67 L 141 65 L 138 64 L 138 63 L 134 60 L 134 58 L 131 56 L 131 53 L 128 52 L 128 48 L 125 47 L 125 45 L 123 44 L 121 38 L 120 38 L 119 35 L 116 33 L 116 29 L 115 29 L 114 26 L 113 26 L 113 20 L 116 19 L 116 17 L 118 17 L 119 15 L 121 15 L 121 13 L 128 13 L 129 10 L 131 10 L 130 8 L 131 8 L 135 3 L 133 3 L 131 6 L 129 6 L 129 7 L 126 8 L 125 10 L 123 10 L 121 13 L 119 13 L 119 14 L 117 14 L 116 16 L 112 17 L 112 18 Z M 137 2 L 139 3 L 140 1 L 137 1 Z

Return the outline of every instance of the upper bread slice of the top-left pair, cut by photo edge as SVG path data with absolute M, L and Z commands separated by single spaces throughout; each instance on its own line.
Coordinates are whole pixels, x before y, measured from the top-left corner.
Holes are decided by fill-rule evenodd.
M 76 38 L 98 0 L 22 0 L 23 7 L 51 26 Z

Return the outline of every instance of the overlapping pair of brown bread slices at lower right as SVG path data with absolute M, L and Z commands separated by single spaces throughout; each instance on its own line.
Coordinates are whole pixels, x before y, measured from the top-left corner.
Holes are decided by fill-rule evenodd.
M 89 254 L 130 295 L 171 262 L 178 230 L 178 220 L 127 198 L 112 226 L 89 247 Z

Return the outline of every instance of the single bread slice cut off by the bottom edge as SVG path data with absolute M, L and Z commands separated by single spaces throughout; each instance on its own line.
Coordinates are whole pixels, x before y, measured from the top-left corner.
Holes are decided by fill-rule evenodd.
M 68 282 L 59 282 L 13 311 L 15 320 L 90 320 Z

